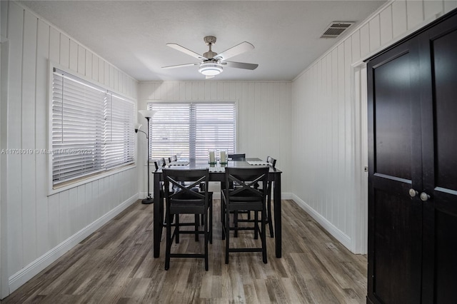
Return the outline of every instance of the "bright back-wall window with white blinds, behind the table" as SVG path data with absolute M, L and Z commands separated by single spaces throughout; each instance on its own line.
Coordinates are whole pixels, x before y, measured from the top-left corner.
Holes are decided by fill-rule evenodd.
M 149 103 L 158 111 L 150 123 L 151 159 L 179 154 L 207 158 L 209 151 L 236 151 L 236 104 L 232 102 Z

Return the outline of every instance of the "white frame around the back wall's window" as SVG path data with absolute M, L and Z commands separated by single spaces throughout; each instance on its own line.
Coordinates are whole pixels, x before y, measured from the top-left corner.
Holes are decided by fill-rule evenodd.
M 236 153 L 237 151 L 237 148 L 238 148 L 238 101 L 236 100 L 180 100 L 180 101 L 167 101 L 167 100 L 149 100 L 147 101 L 146 103 L 146 108 L 148 110 L 151 110 L 152 109 L 152 105 L 153 103 L 168 103 L 168 104 L 173 104 L 173 103 L 176 103 L 176 104 L 183 104 L 183 103 L 186 103 L 186 104 L 189 104 L 190 106 L 193 105 L 193 104 L 198 104 L 198 103 L 204 103 L 204 104 L 211 104 L 211 103 L 219 103 L 219 104 L 224 104 L 224 103 L 231 103 L 233 104 L 233 108 L 234 108 L 234 113 L 233 113 L 233 116 L 234 116 L 234 120 L 235 122 L 233 123 L 233 127 L 235 128 L 235 131 L 234 131 L 234 142 L 233 142 L 233 153 Z M 189 114 L 189 116 L 191 116 Z M 154 117 L 152 118 L 152 121 L 154 121 Z M 153 132 L 153 123 L 150 123 L 150 126 L 149 126 L 149 132 L 151 133 L 151 136 L 150 136 L 150 141 L 148 142 L 149 144 L 149 161 L 154 161 L 156 160 L 156 158 L 153 158 L 153 148 L 152 148 L 152 141 L 151 141 L 151 138 L 153 137 L 152 136 L 152 132 Z M 190 137 L 189 136 L 189 157 L 191 157 L 191 142 L 190 142 Z M 195 149 L 195 147 L 194 147 Z M 215 149 L 215 152 L 216 152 L 216 149 Z M 174 153 L 172 153 L 174 154 Z M 167 156 L 168 157 L 168 156 Z

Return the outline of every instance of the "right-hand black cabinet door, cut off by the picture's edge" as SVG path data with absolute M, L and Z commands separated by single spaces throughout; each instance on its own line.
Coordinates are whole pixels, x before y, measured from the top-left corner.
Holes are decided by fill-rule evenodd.
M 457 303 L 457 16 L 418 36 L 423 141 L 423 303 Z

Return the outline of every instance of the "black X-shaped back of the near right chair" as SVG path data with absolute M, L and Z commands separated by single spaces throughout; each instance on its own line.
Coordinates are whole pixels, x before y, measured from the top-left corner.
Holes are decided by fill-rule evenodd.
M 261 184 L 266 189 L 268 167 L 226 168 L 226 195 L 230 203 L 259 201 L 265 203 L 265 193 L 256 186 Z M 230 184 L 236 183 L 235 188 Z

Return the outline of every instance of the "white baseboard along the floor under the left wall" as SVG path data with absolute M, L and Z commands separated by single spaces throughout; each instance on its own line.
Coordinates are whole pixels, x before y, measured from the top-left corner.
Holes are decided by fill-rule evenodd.
M 112 209 L 104 216 L 101 216 L 96 221 L 79 230 L 74 235 L 71 235 L 71 237 L 67 238 L 59 245 L 56 245 L 56 247 L 52 248 L 47 253 L 44 253 L 44 255 L 41 255 L 41 257 L 37 258 L 29 265 L 26 265 L 17 273 L 14 273 L 14 275 L 11 275 L 11 277 L 8 279 L 9 293 L 11 294 L 14 292 L 14 290 L 21 287 L 21 285 L 24 285 L 28 280 L 37 275 L 41 270 L 44 270 L 44 268 L 51 265 L 51 263 L 54 263 L 54 261 L 64 255 L 64 253 L 68 252 L 71 248 L 74 248 L 74 246 L 91 235 L 91 233 L 94 233 L 94 231 L 99 229 L 101 226 L 104 226 L 104 224 L 121 213 L 121 211 L 124 211 L 124 209 L 131 206 L 131 204 L 137 201 L 138 198 L 139 194 L 136 193 L 134 196 L 131 196 L 126 201 L 124 201 L 124 203 L 116 206 L 116 208 Z

